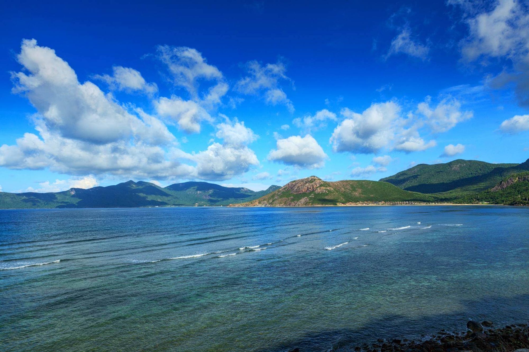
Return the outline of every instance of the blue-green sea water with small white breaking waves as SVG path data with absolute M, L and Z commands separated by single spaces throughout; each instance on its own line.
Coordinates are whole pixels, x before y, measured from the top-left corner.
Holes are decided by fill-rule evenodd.
M 528 249 L 529 208 L 0 210 L 0 350 L 350 350 L 523 322 Z

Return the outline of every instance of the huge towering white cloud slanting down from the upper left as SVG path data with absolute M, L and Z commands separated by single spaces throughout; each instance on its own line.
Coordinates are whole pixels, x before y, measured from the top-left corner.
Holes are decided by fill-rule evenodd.
M 23 40 L 17 60 L 29 75 L 12 72 L 13 92 L 28 97 L 37 109 L 35 118 L 63 137 L 105 144 L 149 129 L 92 82 L 80 84 L 68 63 L 37 41 Z

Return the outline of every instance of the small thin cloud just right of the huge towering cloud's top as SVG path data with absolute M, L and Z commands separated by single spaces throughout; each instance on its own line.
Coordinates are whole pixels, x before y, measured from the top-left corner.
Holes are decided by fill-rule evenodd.
M 158 91 L 156 83 L 147 83 L 139 71 L 132 68 L 114 66 L 113 75 L 95 75 L 97 79 L 105 81 L 112 90 L 143 91 L 152 95 Z

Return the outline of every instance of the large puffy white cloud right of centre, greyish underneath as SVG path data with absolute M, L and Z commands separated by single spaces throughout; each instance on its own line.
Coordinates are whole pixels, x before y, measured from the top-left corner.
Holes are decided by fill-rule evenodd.
M 330 142 L 335 152 L 376 153 L 394 139 L 400 106 L 393 101 L 372 104 L 362 114 L 345 108 L 346 117 L 335 129 Z

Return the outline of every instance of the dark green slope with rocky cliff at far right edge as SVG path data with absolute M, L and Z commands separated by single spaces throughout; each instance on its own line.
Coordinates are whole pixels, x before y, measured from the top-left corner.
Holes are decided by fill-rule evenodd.
M 512 174 L 491 189 L 468 197 L 467 201 L 529 206 L 529 172 Z

